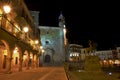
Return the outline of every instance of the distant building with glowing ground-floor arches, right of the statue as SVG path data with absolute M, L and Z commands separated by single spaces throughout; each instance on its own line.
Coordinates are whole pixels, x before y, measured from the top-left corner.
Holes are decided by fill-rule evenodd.
M 117 47 L 116 50 L 104 50 L 96 51 L 95 54 L 100 59 L 100 64 L 102 67 L 119 67 L 120 66 L 120 48 Z

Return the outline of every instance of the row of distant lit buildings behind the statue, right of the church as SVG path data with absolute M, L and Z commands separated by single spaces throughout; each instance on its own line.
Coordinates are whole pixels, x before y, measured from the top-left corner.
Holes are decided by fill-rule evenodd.
M 120 47 L 116 47 L 115 50 L 101 50 L 94 51 L 88 48 L 83 48 L 78 44 L 69 45 L 68 60 L 70 62 L 80 62 L 85 60 L 86 56 L 98 56 L 101 67 L 120 67 Z

